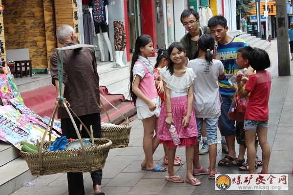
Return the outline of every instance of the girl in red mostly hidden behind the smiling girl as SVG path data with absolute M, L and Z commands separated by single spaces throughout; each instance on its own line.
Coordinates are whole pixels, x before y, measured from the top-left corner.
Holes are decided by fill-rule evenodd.
M 157 62 L 155 64 L 155 70 L 154 70 L 155 80 L 161 81 L 158 84 L 162 85 L 162 88 L 163 88 L 163 81 L 162 81 L 162 78 L 160 77 L 160 74 L 161 74 L 160 70 L 168 65 L 169 55 L 168 55 L 167 50 L 159 49 L 158 50 L 158 57 L 156 60 L 157 60 Z M 160 93 L 159 90 L 160 90 L 160 86 L 157 86 L 157 91 L 159 93 L 159 96 L 161 98 L 161 102 L 163 104 L 164 99 L 165 99 L 165 94 L 164 94 L 164 91 L 162 93 Z M 164 153 L 165 153 L 164 163 L 165 163 L 165 165 L 168 165 L 168 158 L 167 158 L 168 147 L 166 145 L 163 145 L 163 147 L 164 147 Z M 174 166 L 183 165 L 183 163 L 181 162 L 181 158 L 179 156 L 175 156 L 173 165 Z

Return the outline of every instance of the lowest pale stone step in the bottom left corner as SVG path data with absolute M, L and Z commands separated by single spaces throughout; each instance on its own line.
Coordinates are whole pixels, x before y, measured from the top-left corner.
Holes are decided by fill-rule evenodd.
M 11 195 L 28 181 L 37 176 L 32 176 L 27 163 L 20 156 L 0 167 L 0 195 Z

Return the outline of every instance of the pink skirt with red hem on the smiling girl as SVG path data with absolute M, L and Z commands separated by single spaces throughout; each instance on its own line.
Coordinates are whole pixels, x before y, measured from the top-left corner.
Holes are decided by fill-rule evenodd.
M 177 134 L 181 141 L 179 147 L 190 147 L 192 145 L 196 145 L 198 131 L 193 108 L 191 110 L 191 117 L 189 120 L 188 127 L 183 128 L 184 125 L 182 124 L 182 120 L 187 114 L 187 96 L 171 98 L 171 111 L 174 120 L 173 125 L 175 126 Z M 162 143 L 163 145 L 167 145 L 168 148 L 175 149 L 177 146 L 174 145 L 171 134 L 169 132 L 169 128 L 165 123 L 166 118 L 167 108 L 166 103 L 164 101 L 159 116 L 157 137 L 158 139 L 160 139 L 160 143 Z

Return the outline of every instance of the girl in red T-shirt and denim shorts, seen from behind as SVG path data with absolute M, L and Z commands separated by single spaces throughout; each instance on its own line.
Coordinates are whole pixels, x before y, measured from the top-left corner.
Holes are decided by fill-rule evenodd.
M 251 93 L 244 117 L 245 145 L 247 147 L 247 159 L 249 174 L 255 174 L 255 134 L 257 134 L 259 145 L 262 150 L 263 167 L 258 174 L 268 174 L 268 166 L 271 156 L 271 149 L 268 143 L 268 120 L 269 120 L 269 98 L 271 91 L 272 77 L 266 68 L 271 66 L 268 53 L 262 49 L 253 49 L 250 52 L 249 62 L 256 70 L 246 83 L 245 89 L 241 84 L 243 74 L 237 74 L 236 81 L 241 98 Z

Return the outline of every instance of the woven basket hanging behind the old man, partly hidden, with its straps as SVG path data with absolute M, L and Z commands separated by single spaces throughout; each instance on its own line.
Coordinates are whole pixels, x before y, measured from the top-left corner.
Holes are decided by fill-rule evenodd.
M 114 105 L 112 105 L 102 94 L 100 94 L 102 98 L 104 98 L 111 106 L 113 106 L 116 110 L 118 110 Z M 108 117 L 109 123 L 111 123 L 110 117 L 105 109 L 105 106 L 102 101 L 101 105 L 105 111 L 106 116 Z M 124 117 L 124 115 L 118 110 L 118 112 Z M 102 127 L 101 126 L 101 134 L 102 138 L 110 139 L 112 141 L 112 148 L 125 148 L 128 147 L 129 144 L 129 136 L 131 125 L 128 123 L 128 118 L 124 117 L 126 120 L 126 125 L 115 125 L 111 127 Z

